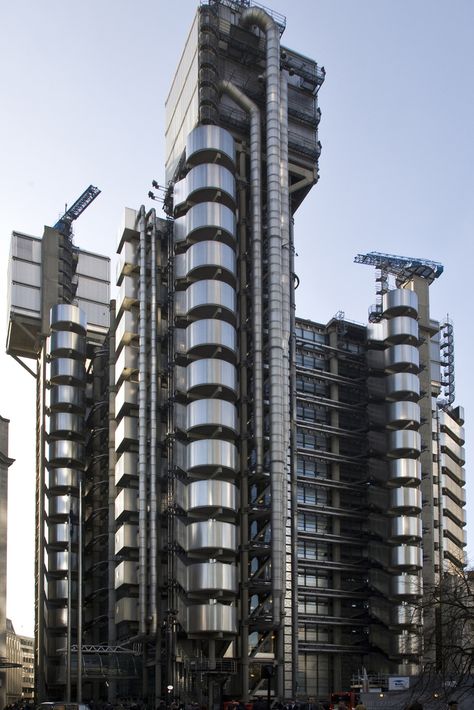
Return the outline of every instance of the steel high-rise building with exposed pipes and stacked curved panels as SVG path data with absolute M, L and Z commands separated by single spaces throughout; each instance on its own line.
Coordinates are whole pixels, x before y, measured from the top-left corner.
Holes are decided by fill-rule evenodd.
M 423 582 L 463 566 L 439 265 L 361 255 L 380 271 L 369 325 L 295 321 L 324 70 L 284 27 L 199 6 L 166 104 L 165 216 L 125 210 L 110 326 L 103 257 L 60 224 L 14 234 L 9 351 L 40 373 L 37 699 L 212 707 L 416 674 Z

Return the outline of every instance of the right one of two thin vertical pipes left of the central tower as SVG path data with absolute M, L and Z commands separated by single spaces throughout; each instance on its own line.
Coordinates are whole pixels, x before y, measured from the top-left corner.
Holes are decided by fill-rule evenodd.
M 151 215 L 151 384 L 150 384 L 150 619 L 152 634 L 157 628 L 157 466 L 156 466 L 156 403 L 157 403 L 157 357 L 156 357 L 156 211 Z

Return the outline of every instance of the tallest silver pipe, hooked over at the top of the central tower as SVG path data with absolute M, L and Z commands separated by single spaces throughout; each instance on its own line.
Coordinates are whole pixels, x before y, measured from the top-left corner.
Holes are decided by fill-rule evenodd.
M 284 451 L 284 393 L 282 347 L 282 236 L 280 185 L 280 35 L 273 19 L 264 10 L 246 8 L 241 16 L 244 27 L 257 25 L 266 35 L 266 159 L 267 159 L 267 242 L 268 242 L 268 334 L 270 357 L 270 471 L 272 492 L 272 596 L 273 623 L 281 626 L 283 613 L 283 560 L 285 521 L 282 519 L 286 493 Z M 288 417 L 287 417 L 288 418 Z M 288 423 L 288 422 L 287 422 Z M 281 634 L 279 634 L 281 636 Z M 279 661 L 282 661 L 279 658 Z M 282 673 L 279 675 L 283 675 Z M 282 689 L 279 678 L 279 691 Z

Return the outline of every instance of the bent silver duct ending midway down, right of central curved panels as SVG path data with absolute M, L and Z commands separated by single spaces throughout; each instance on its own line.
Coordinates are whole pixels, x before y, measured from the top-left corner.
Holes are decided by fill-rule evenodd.
M 263 306 L 262 306 L 262 136 L 260 111 L 231 81 L 221 81 L 225 92 L 250 115 L 250 196 L 252 204 L 252 340 L 253 407 L 257 472 L 263 470 Z

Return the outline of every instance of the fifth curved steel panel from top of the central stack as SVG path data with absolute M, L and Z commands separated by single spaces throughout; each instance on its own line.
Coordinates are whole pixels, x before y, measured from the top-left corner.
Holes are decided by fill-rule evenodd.
M 220 318 L 234 323 L 237 311 L 235 289 L 223 281 L 206 279 L 196 281 L 186 289 L 186 313 L 209 318 L 216 309 L 221 309 Z

